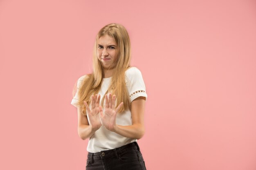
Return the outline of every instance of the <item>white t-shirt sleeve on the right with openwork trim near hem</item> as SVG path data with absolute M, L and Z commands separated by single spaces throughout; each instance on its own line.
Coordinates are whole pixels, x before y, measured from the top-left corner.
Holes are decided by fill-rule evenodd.
M 140 96 L 147 99 L 146 86 L 138 68 L 132 67 L 126 71 L 126 86 L 130 102 Z

